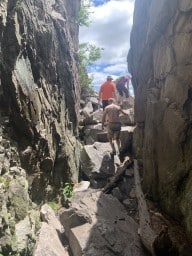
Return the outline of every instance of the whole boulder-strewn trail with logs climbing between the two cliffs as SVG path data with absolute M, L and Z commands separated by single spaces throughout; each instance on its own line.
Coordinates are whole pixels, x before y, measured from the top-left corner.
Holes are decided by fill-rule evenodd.
M 122 127 L 123 155 L 111 155 L 97 110 L 89 112 L 90 106 L 82 110 L 81 181 L 74 187 L 69 207 L 56 214 L 48 205 L 42 207 L 44 225 L 34 255 L 191 255 L 179 223 L 145 199 L 142 168 L 131 152 L 133 120 L 131 126 Z M 101 118 L 102 111 L 99 114 Z M 50 237 L 45 238 L 45 233 Z

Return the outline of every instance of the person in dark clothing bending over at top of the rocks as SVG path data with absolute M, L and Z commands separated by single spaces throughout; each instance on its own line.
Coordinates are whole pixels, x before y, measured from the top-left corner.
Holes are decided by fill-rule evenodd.
M 115 81 L 116 90 L 119 94 L 118 103 L 122 104 L 122 98 L 125 95 L 126 98 L 129 98 L 129 81 L 130 76 L 121 76 Z

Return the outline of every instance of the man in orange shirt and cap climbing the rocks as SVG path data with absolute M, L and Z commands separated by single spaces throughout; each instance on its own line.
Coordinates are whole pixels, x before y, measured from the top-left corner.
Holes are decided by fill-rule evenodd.
M 115 84 L 112 82 L 113 78 L 111 76 L 107 76 L 106 82 L 104 82 L 99 90 L 99 99 L 102 101 L 103 110 L 106 106 L 108 106 L 108 99 L 115 98 L 116 99 L 116 89 Z

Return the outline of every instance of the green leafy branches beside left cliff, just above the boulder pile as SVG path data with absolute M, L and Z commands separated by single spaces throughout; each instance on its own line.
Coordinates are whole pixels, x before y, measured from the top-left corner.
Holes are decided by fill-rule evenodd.
M 102 48 L 89 43 L 79 45 L 79 77 L 82 91 L 87 90 L 93 92 L 93 87 L 91 85 L 93 76 L 88 76 L 86 67 L 92 65 L 101 57 L 101 50 Z

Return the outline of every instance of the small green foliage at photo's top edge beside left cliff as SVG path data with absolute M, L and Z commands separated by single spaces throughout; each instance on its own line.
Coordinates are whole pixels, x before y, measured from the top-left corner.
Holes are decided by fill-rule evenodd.
M 89 17 L 90 17 L 90 7 L 91 7 L 91 1 L 82 1 L 81 2 L 81 8 L 79 10 L 78 16 L 77 16 L 77 24 L 79 26 L 86 26 L 88 27 L 91 23 Z

